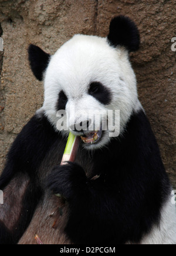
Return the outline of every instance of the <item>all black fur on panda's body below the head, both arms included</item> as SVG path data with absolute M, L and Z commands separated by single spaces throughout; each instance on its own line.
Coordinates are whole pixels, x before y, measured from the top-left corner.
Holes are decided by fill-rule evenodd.
M 140 242 L 159 223 L 161 206 L 170 194 L 170 183 L 145 114 L 133 114 L 126 133 L 111 140 L 103 150 L 87 154 L 80 145 L 75 163 L 58 166 L 65 144 L 45 115 L 32 117 L 16 138 L 0 178 L 0 189 L 16 175 L 20 177 L 21 171 L 28 174 L 30 182 L 17 229 L 9 234 L 1 224 L 0 242 L 18 242 L 47 191 L 43 188 L 46 177 L 40 171 L 45 171 L 46 176 L 55 165 L 48 176 L 48 186 L 67 200 L 70 213 L 65 231 L 72 242 Z M 48 163 L 49 155 L 52 165 Z M 43 159 L 46 170 L 40 169 Z M 100 177 L 91 180 L 96 174 Z

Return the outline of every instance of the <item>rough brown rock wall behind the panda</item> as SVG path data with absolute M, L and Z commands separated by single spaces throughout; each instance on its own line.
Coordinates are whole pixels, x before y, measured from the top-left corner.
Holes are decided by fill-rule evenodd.
M 107 36 L 111 18 L 123 14 L 140 29 L 141 49 L 131 54 L 139 98 L 176 188 L 175 13 L 174 0 L 0 0 L 0 171 L 16 134 L 43 102 L 42 83 L 29 69 L 29 43 L 52 54 L 75 33 Z

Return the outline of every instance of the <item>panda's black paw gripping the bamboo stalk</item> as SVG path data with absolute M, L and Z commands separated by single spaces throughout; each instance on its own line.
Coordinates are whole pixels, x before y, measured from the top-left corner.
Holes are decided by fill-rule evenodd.
M 82 193 L 88 183 L 82 167 L 76 163 L 56 166 L 48 176 L 48 187 L 53 194 L 60 194 L 70 200 Z

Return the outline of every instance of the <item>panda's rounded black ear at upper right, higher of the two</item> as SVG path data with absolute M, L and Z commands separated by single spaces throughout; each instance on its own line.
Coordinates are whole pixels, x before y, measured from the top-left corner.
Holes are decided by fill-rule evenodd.
M 136 24 L 122 15 L 111 20 L 107 39 L 110 45 L 125 46 L 129 52 L 135 52 L 140 46 L 140 34 Z

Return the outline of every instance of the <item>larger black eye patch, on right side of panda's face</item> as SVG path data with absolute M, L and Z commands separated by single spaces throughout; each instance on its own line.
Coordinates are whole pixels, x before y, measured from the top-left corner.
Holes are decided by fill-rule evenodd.
M 104 105 L 109 105 L 111 102 L 110 90 L 103 86 L 100 82 L 90 83 L 88 93 Z

